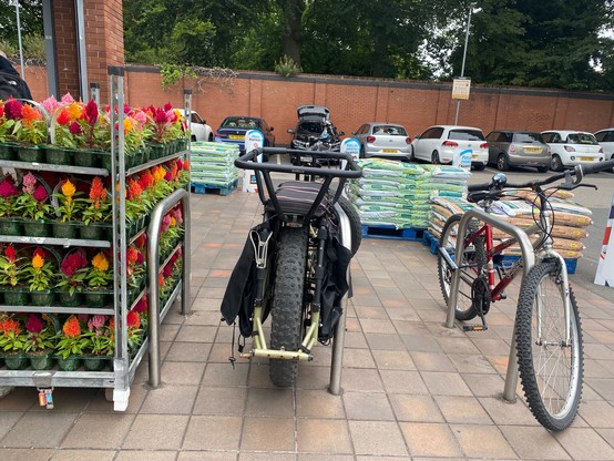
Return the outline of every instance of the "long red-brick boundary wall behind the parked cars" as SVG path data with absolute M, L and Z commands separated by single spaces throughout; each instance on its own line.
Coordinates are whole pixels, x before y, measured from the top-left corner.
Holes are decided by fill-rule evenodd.
M 183 105 L 183 86 L 162 90 L 154 68 L 126 68 L 126 101 L 133 105 Z M 195 89 L 188 81 L 186 88 Z M 275 73 L 239 72 L 231 86 L 205 81 L 194 91 L 193 110 L 215 130 L 227 115 L 263 116 L 275 126 L 276 142 L 287 144 L 295 127 L 296 107 L 321 104 L 332 122 L 349 135 L 370 121 L 401 123 L 413 137 L 432 124 L 453 124 L 457 101 L 451 85 L 326 75 L 285 79 Z M 461 101 L 460 125 L 543 131 L 573 129 L 595 132 L 614 126 L 614 94 L 473 85 Z

